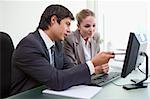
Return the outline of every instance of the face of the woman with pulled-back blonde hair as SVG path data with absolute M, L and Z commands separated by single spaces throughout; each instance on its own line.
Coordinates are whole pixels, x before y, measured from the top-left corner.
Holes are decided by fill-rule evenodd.
M 95 17 L 87 16 L 77 25 L 83 39 L 88 39 L 94 35 L 95 24 Z

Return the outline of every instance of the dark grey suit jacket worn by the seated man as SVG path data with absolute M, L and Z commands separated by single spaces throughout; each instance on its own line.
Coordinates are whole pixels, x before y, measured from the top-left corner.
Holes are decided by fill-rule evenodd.
M 55 42 L 55 67 L 49 63 L 46 45 L 38 31 L 30 33 L 17 45 L 12 58 L 11 94 L 41 84 L 53 90 L 65 90 L 73 85 L 89 84 L 88 66 L 73 66 L 63 54 L 63 44 Z M 70 68 L 72 67 L 72 68 Z

